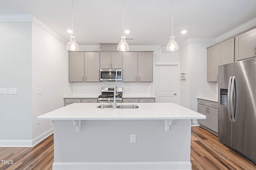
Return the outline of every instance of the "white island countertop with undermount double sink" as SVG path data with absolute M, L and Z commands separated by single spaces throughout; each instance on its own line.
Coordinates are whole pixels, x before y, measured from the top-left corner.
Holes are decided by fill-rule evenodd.
M 129 103 L 137 109 L 100 109 L 99 103 L 74 103 L 38 116 L 40 120 L 148 120 L 206 119 L 196 111 L 174 103 Z M 120 104 L 117 104 L 120 105 Z

